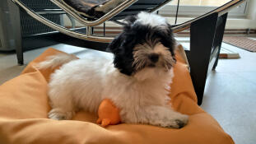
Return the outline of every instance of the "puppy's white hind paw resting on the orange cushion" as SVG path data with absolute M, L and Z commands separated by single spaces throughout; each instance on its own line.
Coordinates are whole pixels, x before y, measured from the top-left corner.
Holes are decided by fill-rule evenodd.
M 48 118 L 56 120 L 68 120 L 71 119 L 74 112 L 67 112 L 60 108 L 51 109 L 48 113 Z

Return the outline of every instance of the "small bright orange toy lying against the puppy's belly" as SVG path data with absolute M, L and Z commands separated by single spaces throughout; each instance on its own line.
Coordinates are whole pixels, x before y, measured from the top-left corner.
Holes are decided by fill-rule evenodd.
M 102 100 L 100 103 L 98 116 L 97 123 L 101 124 L 102 127 L 121 122 L 119 109 L 109 99 Z

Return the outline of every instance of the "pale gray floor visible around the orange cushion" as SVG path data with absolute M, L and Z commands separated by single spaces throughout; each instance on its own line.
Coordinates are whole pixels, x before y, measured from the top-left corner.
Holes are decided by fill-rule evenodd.
M 202 108 L 216 118 L 236 144 L 254 144 L 256 143 L 256 53 L 229 44 L 222 45 L 239 52 L 241 58 L 219 61 L 216 71 L 211 72 L 207 78 Z M 67 53 L 75 53 L 78 57 L 84 57 L 87 52 L 102 54 L 64 44 L 53 47 Z M 29 63 L 45 49 L 47 48 L 26 52 L 25 63 Z M 24 67 L 26 66 L 16 65 L 15 54 L 0 53 L 0 85 L 16 77 Z

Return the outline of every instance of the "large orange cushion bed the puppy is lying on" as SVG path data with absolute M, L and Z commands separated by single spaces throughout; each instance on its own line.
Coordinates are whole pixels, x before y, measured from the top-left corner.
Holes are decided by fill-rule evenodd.
M 47 118 L 50 109 L 47 82 L 52 70 L 39 71 L 33 65 L 56 53 L 62 52 L 46 50 L 19 77 L 0 86 L 0 143 L 234 143 L 216 120 L 197 105 L 188 66 L 179 53 L 176 53 L 178 61 L 174 67 L 170 102 L 174 109 L 189 114 L 189 123 L 184 128 L 125 123 L 102 128 L 95 123 L 96 115 L 83 111 L 73 120 Z

